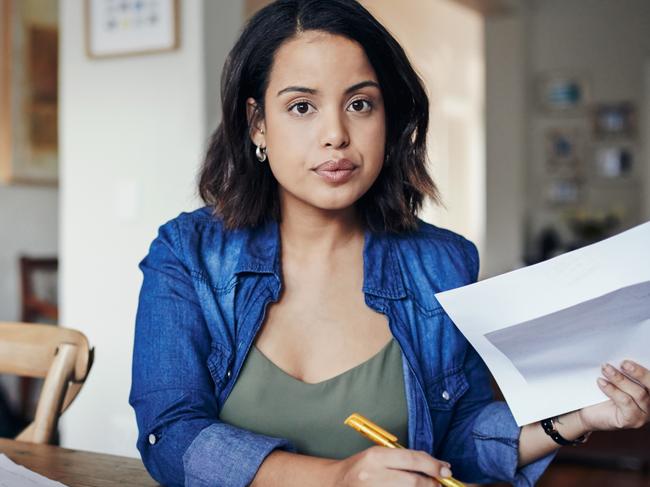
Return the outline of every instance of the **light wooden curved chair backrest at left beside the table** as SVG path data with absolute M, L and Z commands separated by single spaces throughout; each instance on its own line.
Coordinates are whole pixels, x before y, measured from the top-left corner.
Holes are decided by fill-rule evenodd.
M 53 325 L 0 322 L 0 373 L 44 378 L 34 421 L 17 437 L 49 443 L 59 416 L 79 393 L 94 350 L 79 331 Z

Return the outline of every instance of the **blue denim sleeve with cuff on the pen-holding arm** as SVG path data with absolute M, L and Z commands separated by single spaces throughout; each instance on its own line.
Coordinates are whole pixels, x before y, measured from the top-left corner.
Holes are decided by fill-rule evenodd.
M 210 334 L 177 242 L 174 222 L 164 225 L 140 264 L 129 396 L 138 450 L 163 485 L 245 486 L 272 450 L 293 448 L 219 421 Z

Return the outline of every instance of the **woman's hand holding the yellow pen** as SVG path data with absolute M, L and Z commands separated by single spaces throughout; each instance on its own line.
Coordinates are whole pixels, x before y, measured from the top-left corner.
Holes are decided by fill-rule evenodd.
M 438 487 L 451 465 L 416 450 L 373 446 L 334 465 L 332 485 L 341 487 Z

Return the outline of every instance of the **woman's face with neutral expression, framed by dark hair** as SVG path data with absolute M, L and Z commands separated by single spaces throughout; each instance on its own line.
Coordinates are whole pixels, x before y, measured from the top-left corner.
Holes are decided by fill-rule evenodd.
M 359 44 L 320 31 L 287 41 L 276 52 L 264 103 L 252 138 L 266 147 L 283 208 L 340 210 L 372 186 L 384 161 L 386 122 L 377 76 Z M 253 106 L 249 98 L 249 114 Z

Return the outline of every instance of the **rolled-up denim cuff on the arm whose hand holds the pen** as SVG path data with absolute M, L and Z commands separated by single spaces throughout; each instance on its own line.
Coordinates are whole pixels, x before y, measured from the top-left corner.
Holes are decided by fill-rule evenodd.
M 245 487 L 276 448 L 295 452 L 282 438 L 260 435 L 227 423 L 202 430 L 183 455 L 186 487 Z

